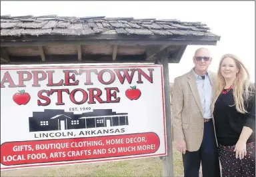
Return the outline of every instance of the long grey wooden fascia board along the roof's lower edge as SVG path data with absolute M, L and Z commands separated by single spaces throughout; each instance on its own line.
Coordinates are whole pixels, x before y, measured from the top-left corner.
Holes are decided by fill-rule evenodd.
M 1 46 L 38 46 L 38 45 L 216 45 L 219 36 L 180 36 L 180 35 L 91 35 L 91 36 L 59 36 L 42 35 L 5 37 L 1 36 Z

